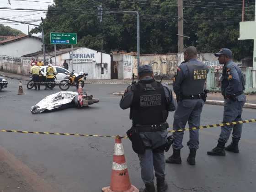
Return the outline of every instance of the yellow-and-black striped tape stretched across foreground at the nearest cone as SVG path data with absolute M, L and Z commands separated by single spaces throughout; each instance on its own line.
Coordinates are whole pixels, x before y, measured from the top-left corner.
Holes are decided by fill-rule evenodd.
M 193 127 L 193 128 L 184 128 L 184 129 L 171 130 L 171 131 L 168 131 L 168 133 L 181 132 L 181 131 L 191 131 L 191 130 L 204 129 L 204 128 L 216 128 L 216 127 L 230 126 L 230 125 L 243 124 L 243 123 L 255 123 L 255 122 L 256 122 L 256 119 L 249 119 L 249 120 L 235 121 L 235 122 L 229 122 L 229 123 L 220 123 L 220 124 L 204 125 L 204 126 Z M 18 130 L 4 130 L 4 129 L 0 129 L 0 132 L 33 133 L 33 134 L 47 134 L 47 135 L 67 135 L 67 136 L 82 136 L 82 137 L 110 137 L 110 138 L 120 138 L 120 139 L 127 139 L 128 138 L 127 136 L 120 136 L 120 135 L 116 135 L 116 136 L 111 136 L 111 135 L 89 135 L 89 134 L 77 134 L 77 133 L 51 133 L 51 132 L 18 131 Z

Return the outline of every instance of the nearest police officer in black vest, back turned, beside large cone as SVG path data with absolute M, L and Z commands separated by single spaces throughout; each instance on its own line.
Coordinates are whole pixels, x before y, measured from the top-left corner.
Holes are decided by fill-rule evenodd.
M 175 103 L 167 85 L 155 81 L 150 65 L 140 66 L 138 73 L 139 82 L 128 86 L 120 107 L 131 107 L 132 128 L 139 132 L 145 147 L 144 153 L 138 154 L 141 177 L 145 184 L 140 192 L 155 192 L 154 169 L 157 191 L 165 192 L 168 186 L 165 182 L 164 149 L 161 147 L 167 141 L 168 112 L 175 110 Z

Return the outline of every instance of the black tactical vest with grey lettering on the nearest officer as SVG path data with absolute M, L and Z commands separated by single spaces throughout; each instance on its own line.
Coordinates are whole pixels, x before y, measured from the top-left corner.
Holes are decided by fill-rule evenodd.
M 163 85 L 152 79 L 140 80 L 133 86 L 135 88 L 131 107 L 133 125 L 165 123 L 168 110 Z

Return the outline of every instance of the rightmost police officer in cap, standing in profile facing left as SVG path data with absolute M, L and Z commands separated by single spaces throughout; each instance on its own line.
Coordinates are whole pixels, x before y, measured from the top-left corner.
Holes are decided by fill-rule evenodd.
M 215 53 L 219 57 L 219 64 L 223 64 L 221 76 L 221 92 L 224 96 L 223 122 L 242 121 L 242 109 L 245 104 L 245 77 L 241 69 L 232 61 L 232 52 L 228 48 L 220 49 Z M 233 128 L 233 138 L 231 144 L 225 148 Z M 208 155 L 224 156 L 225 150 L 239 153 L 238 143 L 242 133 L 242 124 L 221 127 L 217 147 L 208 151 Z M 225 149 L 225 150 L 224 150 Z

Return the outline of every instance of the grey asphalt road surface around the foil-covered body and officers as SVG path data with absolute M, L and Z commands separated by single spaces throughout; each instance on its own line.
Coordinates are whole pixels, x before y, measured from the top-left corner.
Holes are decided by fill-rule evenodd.
M 0 129 L 49 131 L 60 133 L 88 133 L 124 135 L 130 128 L 129 110 L 119 108 L 120 96 L 127 85 L 85 85 L 85 91 L 100 100 L 88 109 L 70 108 L 62 111 L 33 115 L 32 105 L 54 90 L 27 90 L 17 95 L 16 80 L 0 92 Z M 75 91 L 71 87 L 69 91 Z M 255 117 L 255 110 L 245 109 L 244 119 Z M 201 124 L 215 124 L 222 120 L 223 107 L 205 105 Z M 173 113 L 168 122 L 173 122 Z M 197 164 L 187 165 L 188 149 L 184 137 L 181 165 L 166 165 L 168 192 L 254 192 L 256 188 L 256 128 L 245 124 L 240 142 L 240 154 L 227 153 L 226 157 L 206 155 L 216 146 L 220 128 L 200 131 L 200 149 Z M 128 171 L 132 184 L 143 187 L 139 160 L 128 139 L 123 139 Z M 36 172 L 60 192 L 100 192 L 109 185 L 114 140 L 110 138 L 34 135 L 0 132 L 0 145 Z M 171 150 L 172 151 L 172 150 Z M 166 156 L 171 155 L 171 151 Z

